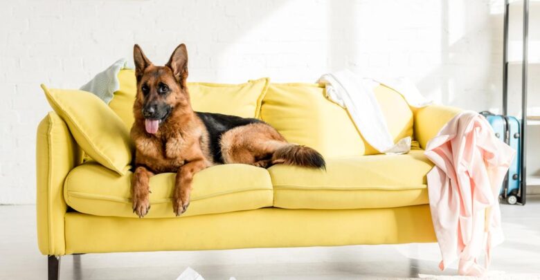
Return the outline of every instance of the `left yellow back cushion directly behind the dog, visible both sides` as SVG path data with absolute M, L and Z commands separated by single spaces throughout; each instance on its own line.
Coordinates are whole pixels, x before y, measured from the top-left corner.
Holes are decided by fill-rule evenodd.
M 134 70 L 120 70 L 118 81 L 120 89 L 114 93 L 109 106 L 131 129 L 134 122 L 133 102 L 137 93 Z M 250 80 L 244 84 L 189 82 L 188 90 L 195 111 L 258 118 L 268 84 L 269 78 Z

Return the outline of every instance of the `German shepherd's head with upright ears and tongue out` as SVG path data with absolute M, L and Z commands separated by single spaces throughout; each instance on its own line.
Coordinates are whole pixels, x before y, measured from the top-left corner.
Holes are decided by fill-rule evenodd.
M 174 109 L 190 106 L 186 88 L 188 50 L 181 44 L 165 66 L 154 66 L 141 47 L 135 45 L 133 59 L 137 79 L 134 113 L 145 119 L 147 133 L 155 134 Z

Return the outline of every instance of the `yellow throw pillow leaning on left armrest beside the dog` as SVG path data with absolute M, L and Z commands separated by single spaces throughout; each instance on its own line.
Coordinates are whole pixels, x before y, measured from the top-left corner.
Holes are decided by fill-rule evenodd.
M 54 111 L 66 122 L 81 149 L 101 165 L 124 175 L 133 144 L 122 120 L 87 91 L 42 88 Z

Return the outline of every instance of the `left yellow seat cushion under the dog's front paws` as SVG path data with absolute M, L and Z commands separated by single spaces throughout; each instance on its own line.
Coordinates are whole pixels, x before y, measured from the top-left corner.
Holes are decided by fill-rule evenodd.
M 174 217 L 172 192 L 176 174 L 150 178 L 150 204 L 145 218 Z M 78 212 L 97 216 L 137 216 L 132 210 L 132 172 L 118 176 L 95 162 L 75 167 L 66 178 L 64 198 Z M 272 185 L 266 169 L 251 165 L 217 165 L 195 174 L 190 206 L 182 216 L 271 207 Z

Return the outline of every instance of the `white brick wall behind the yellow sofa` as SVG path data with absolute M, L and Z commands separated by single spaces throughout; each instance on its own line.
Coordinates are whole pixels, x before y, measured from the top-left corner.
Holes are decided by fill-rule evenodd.
M 0 204 L 35 200 L 35 129 L 51 110 L 39 84 L 78 88 L 134 43 L 163 64 L 185 42 L 192 81 L 312 82 L 348 67 L 481 110 L 501 92 L 492 1 L 2 0 Z

